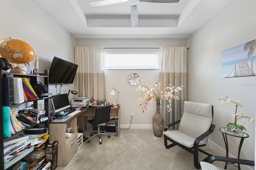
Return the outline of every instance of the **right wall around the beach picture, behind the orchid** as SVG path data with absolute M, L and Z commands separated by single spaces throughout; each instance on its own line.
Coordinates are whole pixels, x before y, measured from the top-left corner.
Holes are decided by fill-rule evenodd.
M 237 0 L 196 31 L 189 41 L 188 99 L 214 106 L 213 123 L 216 127 L 210 140 L 221 147 L 223 155 L 225 145 L 219 128 L 234 121 L 232 114 L 235 106 L 220 104 L 218 98 L 228 96 L 234 101 L 240 100 L 244 107 L 238 108 L 238 114 L 255 117 L 255 76 L 222 78 L 222 51 L 256 38 L 255 6 L 255 0 Z M 255 124 L 239 123 L 246 127 L 245 132 L 250 135 L 244 140 L 240 158 L 254 160 Z M 229 137 L 228 145 L 230 153 L 237 156 L 239 139 Z M 218 148 L 216 146 L 215 149 Z

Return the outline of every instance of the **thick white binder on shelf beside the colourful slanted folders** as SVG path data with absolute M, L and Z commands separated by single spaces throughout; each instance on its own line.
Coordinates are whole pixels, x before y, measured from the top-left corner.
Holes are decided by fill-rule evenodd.
M 24 102 L 22 78 L 13 78 L 14 104 Z

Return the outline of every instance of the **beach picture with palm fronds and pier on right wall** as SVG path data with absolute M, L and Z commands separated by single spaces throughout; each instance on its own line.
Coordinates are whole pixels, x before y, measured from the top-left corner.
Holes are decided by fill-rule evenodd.
M 222 77 L 255 76 L 255 39 L 222 51 Z

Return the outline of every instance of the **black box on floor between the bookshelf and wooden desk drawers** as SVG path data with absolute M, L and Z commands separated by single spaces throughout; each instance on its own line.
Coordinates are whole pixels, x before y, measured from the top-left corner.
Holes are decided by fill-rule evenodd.
M 51 162 L 52 170 L 57 168 L 58 141 L 50 141 L 46 147 L 46 162 Z

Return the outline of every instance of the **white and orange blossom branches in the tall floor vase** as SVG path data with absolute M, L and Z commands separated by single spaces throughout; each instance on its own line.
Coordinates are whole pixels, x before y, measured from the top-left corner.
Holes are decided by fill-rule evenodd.
M 161 107 L 161 99 L 164 98 L 168 101 L 167 111 L 170 112 L 172 110 L 171 108 L 171 101 L 172 99 L 179 99 L 178 96 L 174 94 L 174 92 L 179 93 L 180 90 L 182 90 L 181 87 L 178 86 L 174 87 L 172 84 L 168 84 L 168 81 L 165 82 L 164 86 L 161 86 L 160 83 L 156 83 L 155 86 L 157 89 L 155 90 L 154 87 L 150 86 L 149 84 L 143 85 L 140 84 L 136 90 L 141 91 L 142 95 L 138 99 L 138 102 L 140 100 L 143 100 L 143 102 L 140 104 L 142 106 L 142 111 L 144 113 L 144 110 L 146 111 L 148 102 L 152 102 L 153 99 L 160 100 L 160 107 Z

